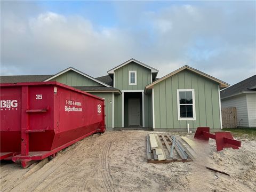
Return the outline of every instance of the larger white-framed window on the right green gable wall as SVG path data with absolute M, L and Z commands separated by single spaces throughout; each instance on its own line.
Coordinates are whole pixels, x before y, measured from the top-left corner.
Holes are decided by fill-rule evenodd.
M 196 120 L 195 108 L 195 90 L 194 89 L 178 89 L 178 120 Z

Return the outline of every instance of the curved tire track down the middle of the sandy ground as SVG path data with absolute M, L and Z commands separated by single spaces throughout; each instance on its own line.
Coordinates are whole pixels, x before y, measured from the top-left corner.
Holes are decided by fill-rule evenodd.
M 111 143 L 113 142 L 114 139 L 115 139 L 115 135 L 114 137 L 112 137 L 111 134 L 108 136 L 108 140 L 106 141 L 102 149 L 101 158 L 100 158 L 103 185 L 105 185 L 108 192 L 116 191 L 115 187 L 113 186 L 113 180 L 111 178 L 109 165 L 107 163 L 108 152 L 111 147 Z

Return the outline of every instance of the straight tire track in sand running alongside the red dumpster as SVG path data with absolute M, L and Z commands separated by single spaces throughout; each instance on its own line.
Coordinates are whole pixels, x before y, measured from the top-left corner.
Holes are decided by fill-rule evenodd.
M 20 191 L 20 189 L 25 189 L 26 191 L 35 191 L 35 189 L 41 185 L 41 183 L 50 175 L 52 174 L 55 170 L 57 170 L 63 163 L 65 163 L 70 157 L 72 157 L 77 150 L 81 149 L 83 147 L 85 142 L 79 143 L 77 146 L 70 146 L 70 151 L 68 151 L 66 154 L 62 155 L 60 159 L 57 159 L 55 161 L 55 164 L 49 165 L 42 167 L 40 171 L 38 170 L 37 172 L 29 175 L 28 177 L 23 177 L 19 182 L 15 182 L 11 186 L 7 186 L 6 188 L 3 189 L 3 192 L 5 191 Z M 51 162 L 50 162 L 51 163 Z M 46 170 L 42 170 L 46 169 Z M 52 181 L 53 182 L 53 181 Z M 31 185 L 33 183 L 33 185 Z

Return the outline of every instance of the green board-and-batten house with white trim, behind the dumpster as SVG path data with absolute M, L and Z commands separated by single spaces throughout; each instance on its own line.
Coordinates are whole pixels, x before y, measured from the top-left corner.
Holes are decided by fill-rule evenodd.
M 1 76 L 1 83 L 58 81 L 105 99 L 107 127 L 221 128 L 220 89 L 229 86 L 183 66 L 160 79 L 158 70 L 135 59 L 93 78 L 72 67 L 55 75 Z

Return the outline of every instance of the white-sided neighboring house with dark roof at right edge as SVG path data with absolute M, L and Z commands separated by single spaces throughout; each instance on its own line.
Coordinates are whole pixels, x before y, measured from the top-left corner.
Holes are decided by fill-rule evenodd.
M 220 92 L 221 108 L 236 107 L 239 127 L 256 127 L 256 75 Z

